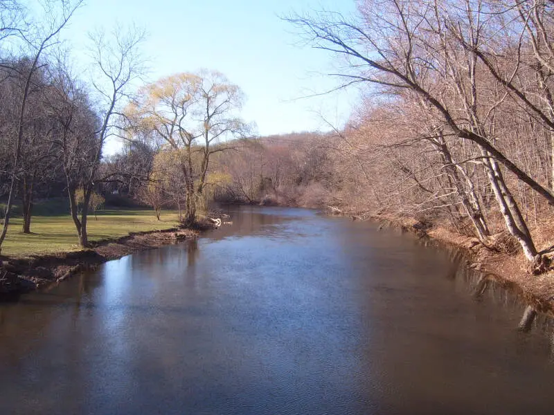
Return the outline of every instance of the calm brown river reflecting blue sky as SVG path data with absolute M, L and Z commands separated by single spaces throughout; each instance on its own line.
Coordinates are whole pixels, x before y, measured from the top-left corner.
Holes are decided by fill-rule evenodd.
M 237 208 L 0 305 L 0 414 L 554 414 L 553 324 L 373 223 Z M 458 267 L 458 268 L 457 268 Z

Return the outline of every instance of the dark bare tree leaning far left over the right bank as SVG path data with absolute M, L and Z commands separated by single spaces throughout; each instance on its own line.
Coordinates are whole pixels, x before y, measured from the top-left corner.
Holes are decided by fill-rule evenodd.
M 440 90 L 429 83 L 432 80 L 425 75 L 435 62 L 425 58 L 428 50 L 418 41 L 427 37 L 426 23 L 436 10 L 426 5 L 414 0 L 388 0 L 377 5 L 367 0 L 360 5 L 362 19 L 359 22 L 349 21 L 334 12 L 291 17 L 288 20 L 303 30 L 315 48 L 345 57 L 350 71 L 333 75 L 346 78 L 347 84 L 366 82 L 389 89 L 413 91 L 434 107 L 436 116 L 456 136 L 482 147 L 519 180 L 554 205 L 551 190 L 521 170 L 486 137 L 468 129 L 463 120 L 453 113 Z

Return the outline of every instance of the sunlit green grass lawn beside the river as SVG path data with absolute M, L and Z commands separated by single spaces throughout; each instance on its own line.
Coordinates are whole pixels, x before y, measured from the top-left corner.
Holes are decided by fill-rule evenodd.
M 89 216 L 89 241 L 124 237 L 129 232 L 174 228 L 178 216 L 176 211 L 164 211 L 158 221 L 152 210 L 102 210 L 98 212 L 98 221 L 93 214 Z M 80 249 L 69 214 L 33 216 L 30 224 L 33 234 L 22 233 L 21 225 L 21 218 L 10 220 L 2 255 L 21 257 Z

